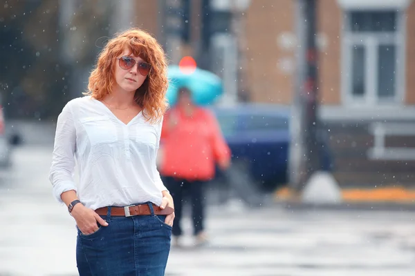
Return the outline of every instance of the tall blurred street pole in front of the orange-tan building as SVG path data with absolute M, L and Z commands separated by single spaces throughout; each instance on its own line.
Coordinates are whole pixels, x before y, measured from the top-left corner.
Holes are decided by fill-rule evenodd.
M 297 78 L 291 120 L 289 181 L 299 191 L 320 168 L 317 144 L 317 0 L 297 0 Z

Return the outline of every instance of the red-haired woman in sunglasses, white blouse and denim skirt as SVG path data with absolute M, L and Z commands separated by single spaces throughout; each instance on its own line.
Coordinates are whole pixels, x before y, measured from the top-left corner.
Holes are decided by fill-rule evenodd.
M 89 92 L 69 101 L 57 119 L 50 181 L 76 221 L 81 276 L 165 273 L 174 204 L 156 154 L 166 70 L 154 37 L 122 32 L 100 52 Z

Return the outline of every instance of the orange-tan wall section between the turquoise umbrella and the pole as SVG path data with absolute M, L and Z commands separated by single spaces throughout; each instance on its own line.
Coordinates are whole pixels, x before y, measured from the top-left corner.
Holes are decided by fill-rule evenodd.
M 246 55 L 252 101 L 291 102 L 294 79 L 289 63 L 295 61 L 295 48 L 279 46 L 279 37 L 294 34 L 294 14 L 293 0 L 251 1 L 246 12 Z

